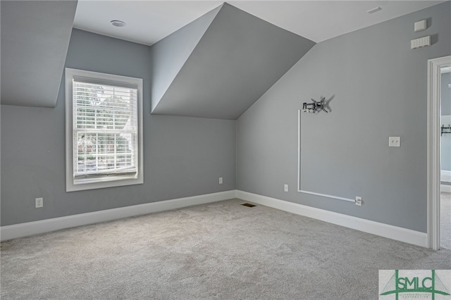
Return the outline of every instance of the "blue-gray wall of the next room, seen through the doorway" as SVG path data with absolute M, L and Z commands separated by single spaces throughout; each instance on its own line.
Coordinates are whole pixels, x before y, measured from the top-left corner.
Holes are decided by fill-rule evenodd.
M 441 101 L 440 112 L 442 115 L 442 125 L 450 126 L 451 124 L 451 73 L 443 73 L 441 76 Z M 450 132 L 450 130 L 446 130 Z M 451 133 L 445 133 L 440 137 L 440 169 L 451 170 Z M 451 182 L 444 182 L 451 184 Z

